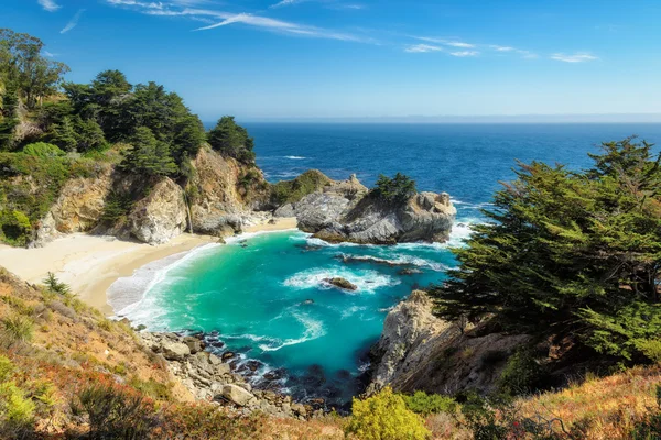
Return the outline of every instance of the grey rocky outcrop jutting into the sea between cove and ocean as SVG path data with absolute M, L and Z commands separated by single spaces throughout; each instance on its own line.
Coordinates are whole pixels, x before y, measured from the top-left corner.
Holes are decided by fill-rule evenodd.
M 300 229 L 326 241 L 390 244 L 446 241 L 456 209 L 445 193 L 420 193 L 403 202 L 386 202 L 351 176 L 275 211 L 277 216 L 292 213 Z

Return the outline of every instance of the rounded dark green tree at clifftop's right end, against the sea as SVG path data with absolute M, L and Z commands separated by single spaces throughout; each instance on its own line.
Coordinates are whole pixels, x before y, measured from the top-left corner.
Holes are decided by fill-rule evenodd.
M 220 118 L 216 127 L 208 132 L 207 141 L 212 148 L 223 155 L 245 164 L 254 163 L 254 140 L 248 135 L 248 130 L 235 122 L 234 117 Z

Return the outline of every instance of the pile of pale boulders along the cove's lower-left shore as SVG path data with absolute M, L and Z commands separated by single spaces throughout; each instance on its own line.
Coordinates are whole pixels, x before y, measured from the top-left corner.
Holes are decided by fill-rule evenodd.
M 196 337 L 176 333 L 138 333 L 142 343 L 163 356 L 169 370 L 198 399 L 228 407 L 240 415 L 260 411 L 277 417 L 305 419 L 323 415 L 311 406 L 296 404 L 291 396 L 253 389 L 224 359 L 204 351 Z M 234 356 L 227 356 L 230 360 Z

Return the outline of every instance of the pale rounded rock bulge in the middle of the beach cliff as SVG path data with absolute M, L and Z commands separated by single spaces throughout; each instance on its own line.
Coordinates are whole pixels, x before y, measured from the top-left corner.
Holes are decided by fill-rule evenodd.
M 128 223 L 131 235 L 149 244 L 165 243 L 180 235 L 187 227 L 184 190 L 164 178 L 136 204 Z

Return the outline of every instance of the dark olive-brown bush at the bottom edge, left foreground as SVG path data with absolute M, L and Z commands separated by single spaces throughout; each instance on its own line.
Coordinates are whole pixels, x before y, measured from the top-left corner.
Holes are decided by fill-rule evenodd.
M 91 439 L 144 439 L 158 422 L 153 409 L 141 396 L 111 385 L 91 385 L 69 406 L 75 416 L 87 417 Z

